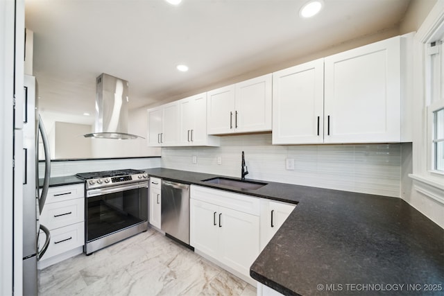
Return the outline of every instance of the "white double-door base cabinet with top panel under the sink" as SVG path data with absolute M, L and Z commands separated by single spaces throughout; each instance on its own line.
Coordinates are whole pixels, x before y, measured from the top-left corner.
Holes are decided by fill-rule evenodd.
M 250 284 L 259 255 L 259 198 L 191 185 L 190 245 Z

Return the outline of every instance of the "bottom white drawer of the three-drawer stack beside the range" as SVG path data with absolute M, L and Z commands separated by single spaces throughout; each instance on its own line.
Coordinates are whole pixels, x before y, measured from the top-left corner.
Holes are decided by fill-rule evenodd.
M 85 244 L 85 223 L 76 223 L 53 229 L 50 231 L 51 241 L 49 242 L 48 250 L 43 255 L 42 260 L 49 259 L 52 256 L 62 254 L 76 247 Z M 43 247 L 45 241 L 44 232 L 40 232 L 39 247 Z

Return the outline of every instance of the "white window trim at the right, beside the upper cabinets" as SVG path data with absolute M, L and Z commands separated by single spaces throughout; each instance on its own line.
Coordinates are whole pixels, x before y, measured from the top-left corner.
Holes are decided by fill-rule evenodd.
M 431 89 L 425 83 L 430 79 L 425 67 L 429 67 L 427 44 L 437 39 L 438 32 L 444 36 L 444 0 L 438 0 L 414 37 L 415 53 L 413 55 L 414 106 L 416 111 L 413 118 L 413 180 L 444 191 L 444 174 L 432 170 L 432 134 L 431 122 L 433 105 L 429 105 Z M 443 54 L 443 53 L 442 53 Z M 441 101 L 439 101 L 441 103 Z M 438 104 L 438 103 L 437 103 Z

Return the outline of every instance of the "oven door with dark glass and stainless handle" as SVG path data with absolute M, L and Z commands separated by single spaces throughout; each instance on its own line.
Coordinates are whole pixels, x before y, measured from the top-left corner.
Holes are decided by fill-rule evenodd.
M 148 182 L 88 190 L 86 241 L 148 221 Z

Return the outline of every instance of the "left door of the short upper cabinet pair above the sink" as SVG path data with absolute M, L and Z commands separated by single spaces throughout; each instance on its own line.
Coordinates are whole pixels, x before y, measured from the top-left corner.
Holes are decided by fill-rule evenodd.
M 235 86 L 221 87 L 207 92 L 207 132 L 227 134 L 234 131 Z

